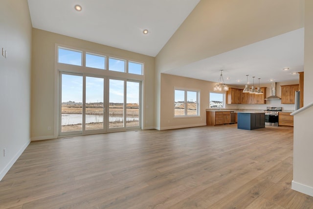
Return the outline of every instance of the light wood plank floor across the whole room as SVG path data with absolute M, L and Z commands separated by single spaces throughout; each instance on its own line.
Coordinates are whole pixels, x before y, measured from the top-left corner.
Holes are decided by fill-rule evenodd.
M 313 209 L 291 190 L 291 127 L 236 125 L 34 141 L 0 208 Z

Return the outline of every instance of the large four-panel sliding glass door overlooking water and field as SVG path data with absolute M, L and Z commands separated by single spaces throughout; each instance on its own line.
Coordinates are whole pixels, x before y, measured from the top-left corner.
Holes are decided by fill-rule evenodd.
M 139 129 L 140 94 L 140 81 L 61 72 L 59 135 Z

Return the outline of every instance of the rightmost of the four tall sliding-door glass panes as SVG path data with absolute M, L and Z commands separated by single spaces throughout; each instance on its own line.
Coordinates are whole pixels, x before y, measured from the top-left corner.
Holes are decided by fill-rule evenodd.
M 127 81 L 126 126 L 139 126 L 139 82 Z

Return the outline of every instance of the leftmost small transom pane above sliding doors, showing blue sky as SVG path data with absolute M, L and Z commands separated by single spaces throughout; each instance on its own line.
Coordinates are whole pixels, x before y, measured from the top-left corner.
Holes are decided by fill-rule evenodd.
M 58 48 L 58 62 L 82 66 L 82 52 L 65 48 Z

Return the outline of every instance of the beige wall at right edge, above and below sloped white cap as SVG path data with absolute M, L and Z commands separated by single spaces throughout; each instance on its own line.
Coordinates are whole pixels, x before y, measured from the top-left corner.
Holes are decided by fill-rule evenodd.
M 305 0 L 304 106 L 313 102 L 313 1 Z M 292 189 L 313 196 L 313 107 L 296 114 L 293 129 Z

